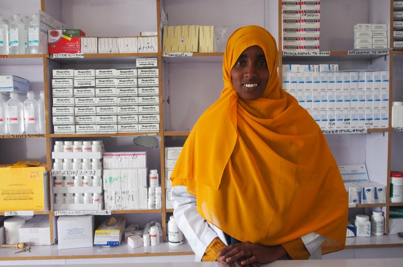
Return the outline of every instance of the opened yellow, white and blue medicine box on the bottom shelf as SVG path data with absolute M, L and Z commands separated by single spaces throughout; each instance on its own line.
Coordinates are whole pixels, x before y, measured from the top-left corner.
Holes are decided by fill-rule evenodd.
M 126 220 L 124 218 L 116 219 L 116 224 L 107 226 L 107 221 L 104 221 L 95 230 L 94 245 L 103 246 L 118 246 L 122 240 L 124 228 L 126 227 Z

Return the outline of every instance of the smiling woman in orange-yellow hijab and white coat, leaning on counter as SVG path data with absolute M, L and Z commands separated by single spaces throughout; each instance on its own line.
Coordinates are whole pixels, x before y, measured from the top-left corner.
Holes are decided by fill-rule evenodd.
M 276 41 L 248 26 L 228 39 L 224 89 L 171 175 L 174 216 L 196 260 L 258 266 L 343 249 L 347 193 L 322 132 L 281 89 Z

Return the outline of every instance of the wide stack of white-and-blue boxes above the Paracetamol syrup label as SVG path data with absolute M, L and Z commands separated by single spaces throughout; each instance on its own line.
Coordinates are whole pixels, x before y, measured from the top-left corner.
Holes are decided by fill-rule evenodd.
M 322 130 L 387 128 L 389 72 L 337 72 L 338 65 L 283 65 L 283 89 Z

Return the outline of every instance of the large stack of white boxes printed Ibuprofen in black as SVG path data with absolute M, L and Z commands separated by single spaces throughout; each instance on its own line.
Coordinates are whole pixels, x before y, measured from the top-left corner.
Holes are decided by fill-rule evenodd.
M 123 70 L 53 70 L 54 132 L 159 131 L 157 59 L 137 59 L 136 66 Z

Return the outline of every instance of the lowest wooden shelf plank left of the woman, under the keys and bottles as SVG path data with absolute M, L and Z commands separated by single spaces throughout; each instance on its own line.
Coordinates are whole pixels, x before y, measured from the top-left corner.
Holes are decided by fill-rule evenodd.
M 58 249 L 57 245 L 33 246 L 31 253 L 18 253 L 15 248 L 0 249 L 0 260 L 34 260 L 34 259 L 80 259 L 80 258 L 116 258 L 116 257 L 154 257 L 193 255 L 188 244 L 171 247 L 167 242 L 156 246 L 132 248 L 125 242 L 115 247 L 83 247 Z

